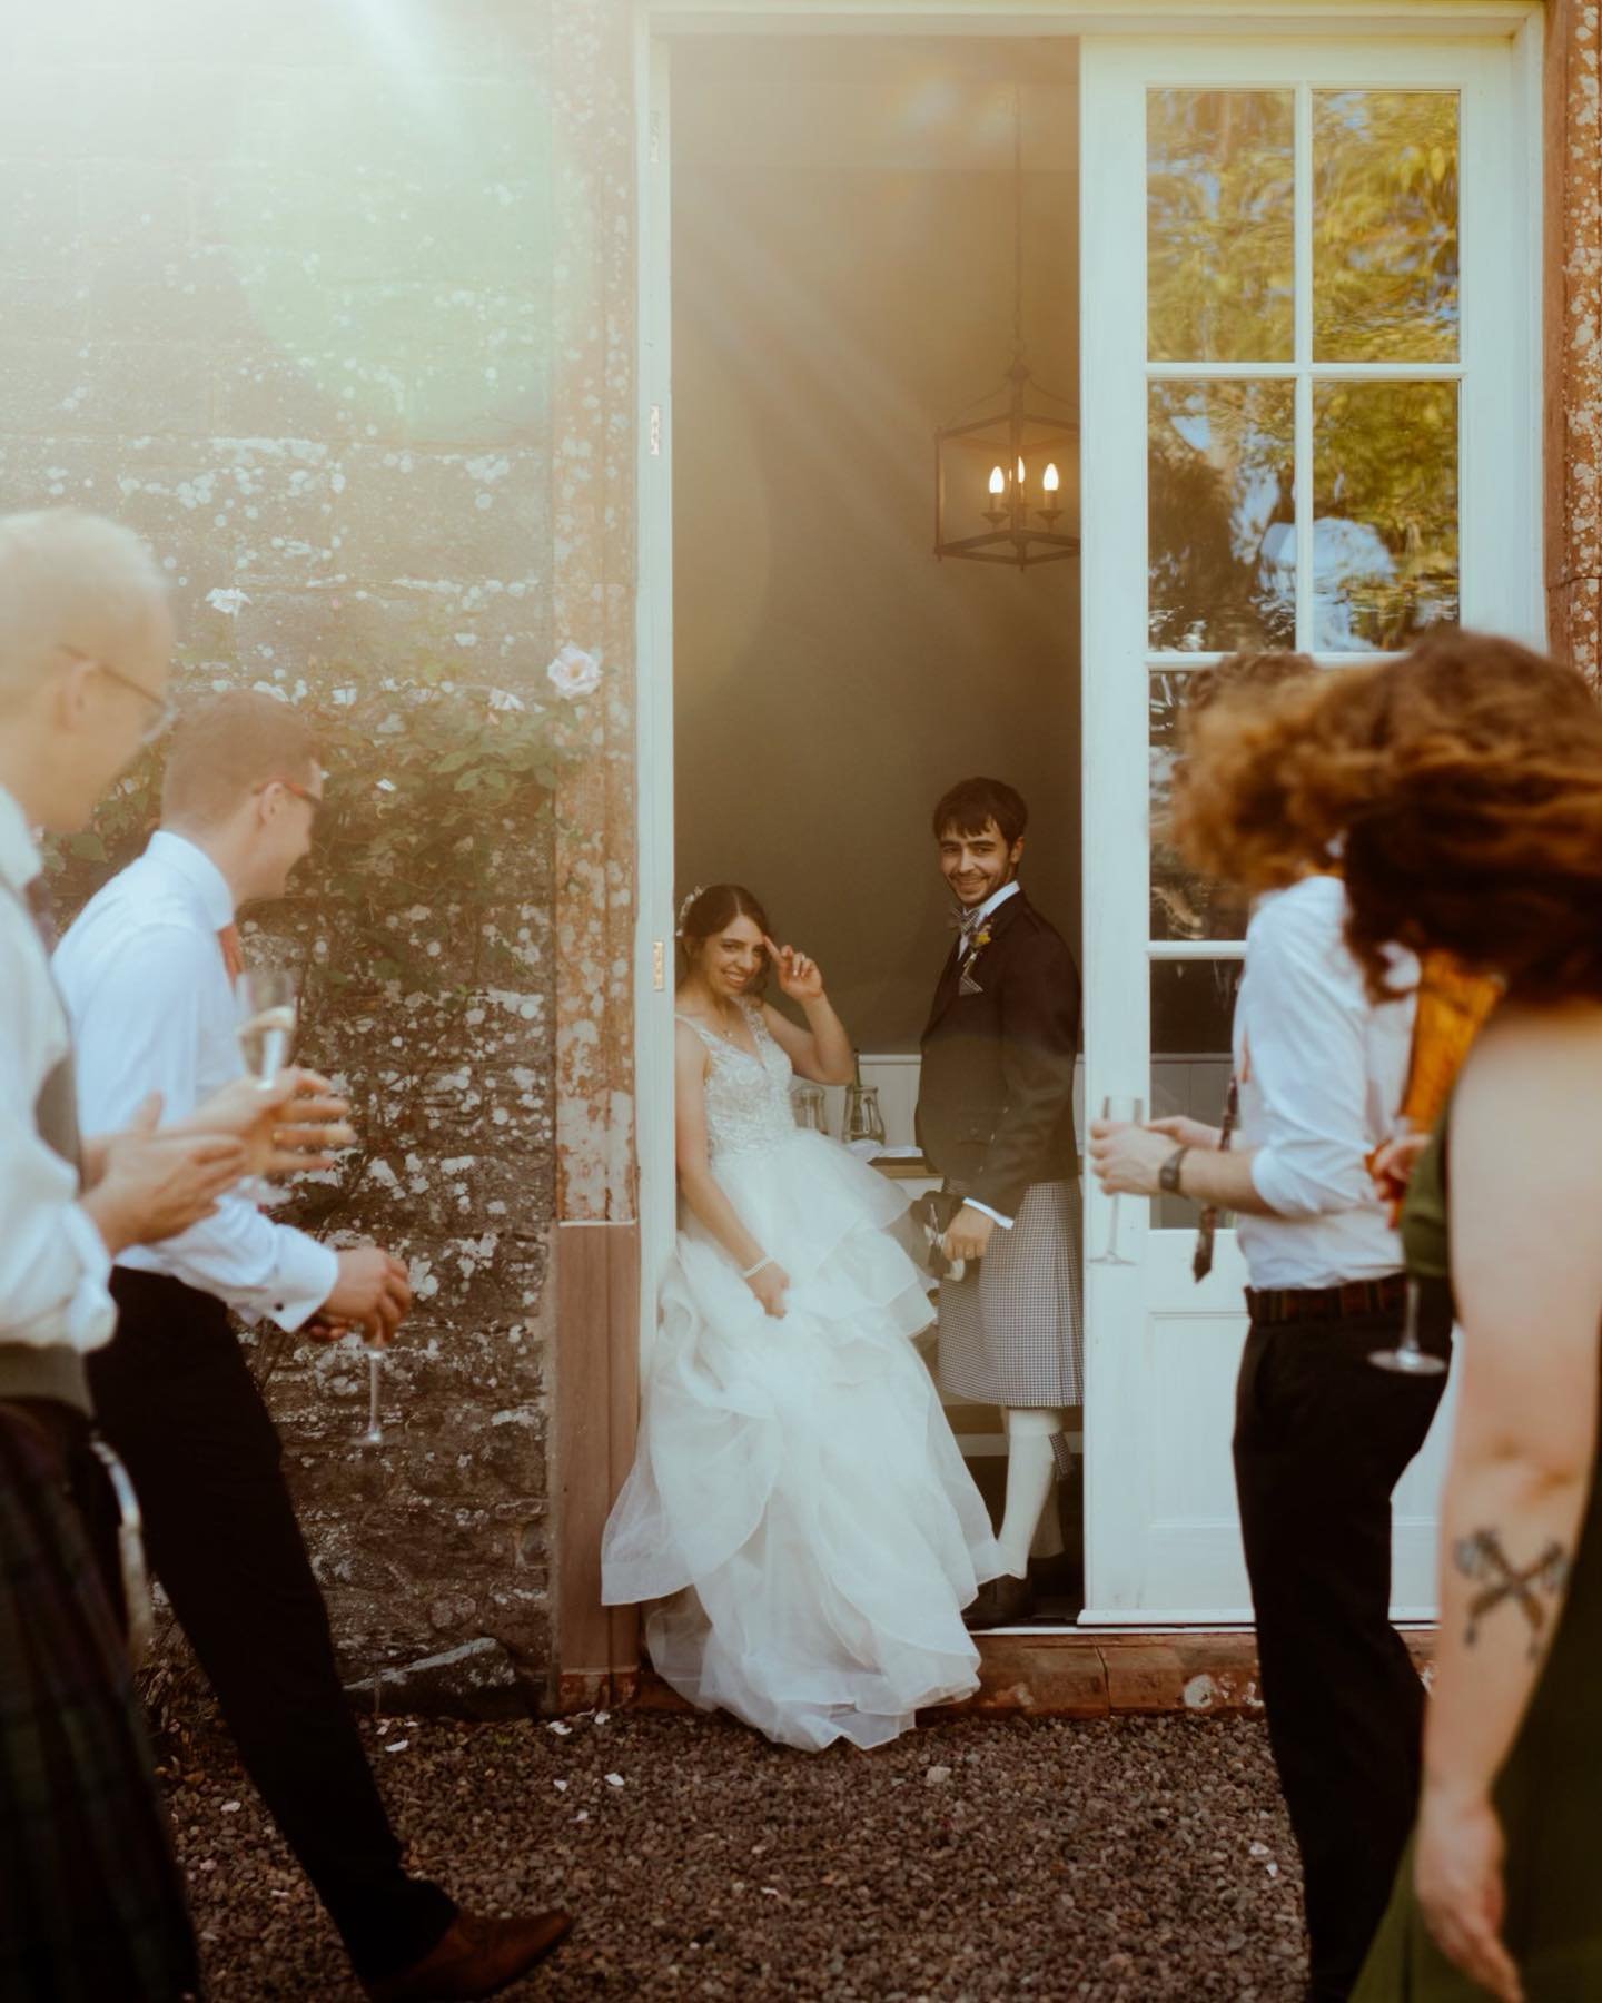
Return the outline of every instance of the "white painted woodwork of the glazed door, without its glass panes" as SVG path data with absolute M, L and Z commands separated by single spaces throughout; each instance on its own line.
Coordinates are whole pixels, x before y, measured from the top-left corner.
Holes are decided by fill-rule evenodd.
M 1147 941 L 1145 387 L 1151 377 L 1250 369 L 1147 369 L 1145 92 L 1149 86 L 1292 86 L 1298 164 L 1310 160 L 1312 90 L 1450 88 L 1460 94 L 1462 361 L 1460 571 L 1466 625 L 1540 643 L 1538 148 L 1528 132 L 1528 38 L 1151 40 L 1087 36 L 1081 48 L 1081 413 L 1085 617 L 1085 1048 L 1087 1106 L 1151 1090 L 1155 961 L 1232 957 L 1238 945 Z M 1300 571 L 1310 579 L 1310 196 L 1298 192 L 1296 361 Z M 1376 379 L 1400 369 L 1376 367 Z M 1406 371 L 1424 375 L 1428 371 Z M 1400 445 L 1404 449 L 1404 445 Z M 1310 637 L 1308 589 L 1298 631 Z M 1328 657 L 1332 663 L 1352 657 Z M 1161 665 L 1177 665 L 1161 657 Z M 1087 1250 L 1107 1236 L 1087 1196 Z M 1155 1230 L 1125 1200 L 1133 1266 L 1087 1266 L 1085 1622 L 1220 1622 L 1248 1616 L 1230 1436 L 1246 1328 L 1244 1264 L 1220 1234 L 1212 1276 L 1189 1274 L 1193 1232 Z M 1434 1518 L 1446 1414 L 1398 1490 L 1396 1600 L 1434 1604 Z

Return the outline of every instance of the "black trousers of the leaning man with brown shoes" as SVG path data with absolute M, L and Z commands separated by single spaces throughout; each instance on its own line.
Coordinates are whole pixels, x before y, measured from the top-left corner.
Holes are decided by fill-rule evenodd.
M 112 1292 L 118 1330 L 90 1356 L 90 1388 L 138 1492 L 150 1568 L 356 1973 L 390 1975 L 427 1955 L 457 1909 L 403 1869 L 340 1689 L 278 1432 L 222 1302 L 124 1268 Z

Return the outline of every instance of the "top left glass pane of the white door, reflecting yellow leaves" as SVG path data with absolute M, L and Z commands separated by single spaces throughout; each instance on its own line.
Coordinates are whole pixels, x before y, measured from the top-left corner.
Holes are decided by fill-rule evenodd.
M 1147 92 L 1145 172 L 1151 361 L 1290 361 L 1292 94 Z

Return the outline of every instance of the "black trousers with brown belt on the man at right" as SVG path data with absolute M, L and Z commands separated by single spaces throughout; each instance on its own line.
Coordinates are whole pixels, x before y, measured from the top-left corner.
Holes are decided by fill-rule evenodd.
M 1444 1302 L 1422 1322 L 1424 1346 L 1448 1356 Z M 1264 1707 L 1302 1849 L 1316 2003 L 1358 1981 L 1418 1807 L 1424 1689 L 1390 1624 L 1390 1496 L 1446 1378 L 1370 1364 L 1400 1326 L 1400 1310 L 1254 1322 L 1236 1390 Z

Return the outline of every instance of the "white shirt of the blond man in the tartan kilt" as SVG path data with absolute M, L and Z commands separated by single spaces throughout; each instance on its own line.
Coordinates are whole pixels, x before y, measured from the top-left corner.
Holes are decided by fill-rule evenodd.
M 40 1140 L 34 1110 L 66 1058 L 66 1016 L 28 911 L 40 855 L 0 787 L 0 1342 L 98 1350 L 116 1328 L 106 1242 L 78 1204 L 78 1172 Z

